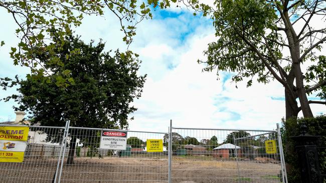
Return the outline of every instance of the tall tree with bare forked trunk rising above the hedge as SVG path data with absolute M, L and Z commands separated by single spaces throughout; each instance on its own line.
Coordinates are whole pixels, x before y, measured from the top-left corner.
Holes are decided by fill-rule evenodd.
M 311 103 L 326 104 L 307 99 L 312 91 L 326 99 L 326 57 L 317 53 L 326 42 L 326 27 L 311 24 L 315 17 L 325 20 L 323 0 L 218 0 L 205 12 L 218 36 L 204 52 L 207 60 L 199 60 L 205 71 L 234 72 L 232 80 L 249 78 L 247 86 L 254 78 L 265 84 L 276 79 L 284 87 L 286 118 L 301 110 L 311 117 Z M 299 23 L 300 29 L 294 28 Z

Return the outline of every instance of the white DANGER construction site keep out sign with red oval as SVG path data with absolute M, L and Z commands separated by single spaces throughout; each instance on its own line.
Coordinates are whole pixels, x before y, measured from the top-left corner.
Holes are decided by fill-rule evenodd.
M 112 150 L 125 150 L 126 146 L 127 131 L 102 131 L 100 148 Z

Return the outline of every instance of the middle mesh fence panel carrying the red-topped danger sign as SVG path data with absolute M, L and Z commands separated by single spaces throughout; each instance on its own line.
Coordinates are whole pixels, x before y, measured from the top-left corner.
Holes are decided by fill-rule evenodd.
M 163 141 L 168 133 L 125 130 L 126 150 L 110 150 L 99 148 L 102 130 L 69 128 L 61 182 L 168 182 L 166 147 L 163 152 L 145 149 L 147 139 Z

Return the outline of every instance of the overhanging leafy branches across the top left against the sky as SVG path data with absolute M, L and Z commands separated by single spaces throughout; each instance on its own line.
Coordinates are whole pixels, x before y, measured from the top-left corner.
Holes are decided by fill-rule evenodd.
M 137 0 L 1 0 L 0 8 L 5 9 L 12 17 L 11 20 L 17 24 L 15 33 L 19 43 L 12 45 L 10 51 L 14 64 L 30 67 L 33 77 L 42 77 L 51 74 L 51 70 L 45 66 L 43 60 L 34 55 L 37 52 L 46 52 L 51 64 L 63 65 L 55 54 L 55 49 L 64 46 L 65 36 L 82 23 L 84 15 L 103 16 L 105 9 L 109 9 L 120 20 L 121 30 L 125 34 L 123 40 L 130 44 L 132 36 L 135 35 L 135 25 L 152 17 L 149 8 L 152 3 L 155 2 L 139 4 Z M 61 41 L 52 39 L 53 28 L 58 30 L 56 37 Z M 53 44 L 54 42 L 56 44 Z M 5 43 L 6 41 L 1 39 L 0 47 Z M 72 54 L 67 52 L 66 56 Z M 61 79 L 57 84 L 65 87 L 71 84 L 70 80 L 73 78 L 63 79 L 65 82 Z

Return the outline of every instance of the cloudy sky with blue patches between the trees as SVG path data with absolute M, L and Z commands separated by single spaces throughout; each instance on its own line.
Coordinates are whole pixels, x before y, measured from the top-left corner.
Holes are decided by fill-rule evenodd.
M 14 66 L 9 56 L 10 46 L 17 44 L 16 24 L 4 9 L 0 17 L 6 21 L 0 29 L 6 42 L 0 48 L 0 77 L 25 77 L 28 69 Z M 119 21 L 110 12 L 104 17 L 86 16 L 75 30 L 85 42 L 103 39 L 107 51 L 126 50 Z M 179 8 L 156 10 L 153 19 L 138 24 L 136 33 L 129 49 L 140 55 L 139 74 L 147 77 L 142 96 L 132 103 L 137 110 L 129 115 L 134 117 L 129 129 L 167 132 L 172 119 L 174 127 L 271 130 L 285 116 L 283 87 L 278 82 L 253 82 L 248 88 L 246 82 L 239 82 L 236 88 L 232 73 L 220 72 L 217 80 L 216 70 L 202 71 L 205 65 L 197 60 L 205 60 L 207 44 L 217 40 L 210 19 Z M 0 97 L 15 92 L 1 90 Z M 0 121 L 15 119 L 13 105 L 14 101 L 0 101 Z M 314 115 L 326 111 L 320 104 L 312 104 L 311 109 Z

